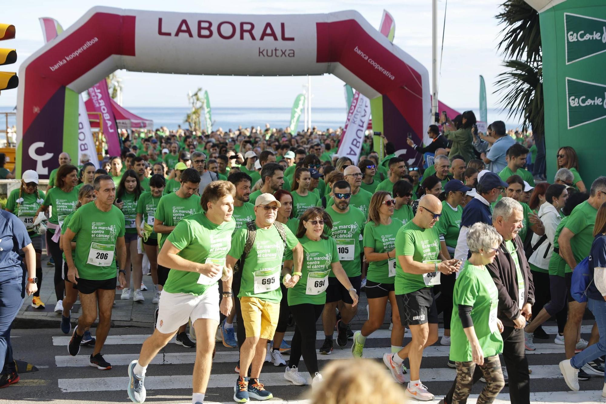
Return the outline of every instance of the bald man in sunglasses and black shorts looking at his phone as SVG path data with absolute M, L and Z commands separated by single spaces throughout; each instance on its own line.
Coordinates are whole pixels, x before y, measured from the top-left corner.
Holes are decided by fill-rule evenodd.
M 441 253 L 435 226 L 441 212 L 441 201 L 424 195 L 415 217 L 396 235 L 396 302 L 402 325 L 410 329 L 412 340 L 399 351 L 383 355 L 383 362 L 399 383 L 404 383 L 402 363 L 408 358 L 410 382 L 406 391 L 421 401 L 433 400 L 419 377 L 424 348 L 438 341 L 438 311 L 432 288 L 440 284 L 441 275 L 454 276 L 460 266 L 458 260 L 445 260 Z

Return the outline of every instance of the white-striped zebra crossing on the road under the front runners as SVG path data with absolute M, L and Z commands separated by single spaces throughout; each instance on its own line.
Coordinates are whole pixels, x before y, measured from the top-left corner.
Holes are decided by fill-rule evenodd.
M 528 362 L 530 364 L 531 374 L 531 396 L 532 402 L 552 402 L 552 403 L 593 403 L 606 402 L 601 396 L 602 386 L 604 385 L 604 376 L 594 375 L 590 380 L 581 382 L 581 392 L 569 392 L 567 386 L 559 372 L 558 363 L 564 359 L 564 346 L 553 343 L 553 335 L 556 327 L 545 326 L 545 331 L 552 335 L 550 340 L 536 340 L 536 350 L 527 351 Z M 591 326 L 584 325 L 582 334 L 585 339 L 588 338 Z M 121 331 L 115 329 L 113 332 Z M 91 348 L 82 347 L 78 356 L 68 355 L 67 336 L 53 336 L 51 349 L 54 357 L 54 372 L 56 374 L 56 385 L 58 395 L 65 399 L 75 399 L 76 397 L 99 397 L 104 394 L 122 394 L 125 402 L 128 401 L 125 387 L 128 383 L 127 365 L 139 354 L 142 342 L 149 334 L 135 334 L 137 329 L 130 329 L 130 332 L 118 335 L 110 335 L 105 343 L 102 354 L 105 360 L 112 364 L 110 371 L 98 371 L 88 366 L 88 354 Z M 290 343 L 293 332 L 287 332 L 285 340 Z M 324 366 L 328 360 L 351 359 L 351 340 L 344 348 L 336 344 L 330 355 L 318 354 L 320 367 Z M 390 331 L 380 329 L 367 338 L 366 348 L 364 349 L 364 358 L 368 360 L 381 360 L 385 352 L 390 351 Z M 318 331 L 318 340 L 316 348 L 322 345 L 324 332 Z M 405 343 L 410 340 L 410 334 L 405 335 Z M 429 391 L 436 396 L 436 401 L 444 396 L 450 388 L 454 379 L 455 371 L 446 366 L 448 361 L 448 346 L 434 345 L 425 349 L 424 359 L 421 369 L 421 380 L 428 386 Z M 175 397 L 181 402 L 187 402 L 191 394 L 191 374 L 193 363 L 195 362 L 195 349 L 187 349 L 181 345 L 170 342 L 151 362 L 147 370 L 145 386 L 147 388 L 148 399 L 153 397 L 157 401 L 165 399 L 174 400 Z M 288 362 L 288 355 L 284 355 Z M 213 360 L 213 369 L 207 389 L 207 402 L 225 402 L 231 401 L 233 395 L 233 385 L 236 381 L 234 371 L 238 361 L 238 351 L 236 349 L 224 348 L 222 343 L 216 343 L 216 355 Z M 261 382 L 266 388 L 273 392 L 275 400 L 272 403 L 307 403 L 305 400 L 309 389 L 308 386 L 293 386 L 284 379 L 284 367 L 273 366 L 271 363 L 265 363 L 261 374 Z M 301 361 L 301 369 L 305 374 L 304 363 Z M 385 369 L 386 377 L 390 377 Z M 479 383 L 474 386 L 472 397 L 477 397 L 482 385 Z M 404 397 L 404 396 L 403 396 Z M 474 403 L 475 399 L 470 399 Z M 499 395 L 499 403 L 510 402 L 508 389 Z

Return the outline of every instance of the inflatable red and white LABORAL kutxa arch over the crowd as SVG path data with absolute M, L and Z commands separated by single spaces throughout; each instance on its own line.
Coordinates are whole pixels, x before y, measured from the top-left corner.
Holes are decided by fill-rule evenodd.
M 68 134 L 78 131 L 78 94 L 117 69 L 332 73 L 368 98 L 384 95 L 384 133 L 407 158 L 415 157 L 405 146 L 407 132 L 423 139 L 430 120 L 427 69 L 358 12 L 224 15 L 93 7 L 19 69 L 17 175 L 33 169 L 47 178 L 62 150 L 77 155 Z

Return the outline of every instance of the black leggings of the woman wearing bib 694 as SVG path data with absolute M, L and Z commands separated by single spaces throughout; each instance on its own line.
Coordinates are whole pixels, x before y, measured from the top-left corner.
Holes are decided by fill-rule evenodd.
M 314 377 L 318 369 L 318 357 L 316 356 L 316 322 L 324 310 L 324 305 L 312 305 L 303 303 L 290 306 L 290 311 L 295 317 L 295 335 L 290 344 L 290 360 L 288 367 L 299 367 L 301 355 L 307 366 L 307 371 Z

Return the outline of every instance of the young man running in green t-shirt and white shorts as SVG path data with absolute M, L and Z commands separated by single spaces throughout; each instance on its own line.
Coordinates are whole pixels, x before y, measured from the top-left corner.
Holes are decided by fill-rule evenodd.
M 135 403 L 145 401 L 147 366 L 190 319 L 199 342 L 191 403 L 204 403 L 215 331 L 219 326 L 219 279 L 223 281 L 224 291 L 221 312 L 228 315 L 231 311 L 231 271 L 225 267 L 225 255 L 235 226 L 231 220 L 235 194 L 235 187 L 228 181 L 209 184 L 201 198 L 204 212 L 179 221 L 165 240 L 158 263 L 171 271 L 160 295 L 156 329 L 143 343 L 139 360 L 133 360 L 128 366 L 128 397 Z

